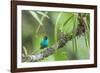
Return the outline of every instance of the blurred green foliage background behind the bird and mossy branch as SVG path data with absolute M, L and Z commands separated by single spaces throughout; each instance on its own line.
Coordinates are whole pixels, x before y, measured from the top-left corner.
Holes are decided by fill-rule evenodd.
M 62 61 L 89 59 L 90 54 L 90 14 L 81 13 L 86 17 L 86 32 L 56 50 L 56 52 L 41 61 Z M 22 10 L 22 46 L 28 54 L 41 52 L 40 42 L 47 35 L 49 47 L 57 42 L 59 35 L 71 32 L 79 25 L 78 13 Z M 24 51 L 23 51 L 24 52 Z

